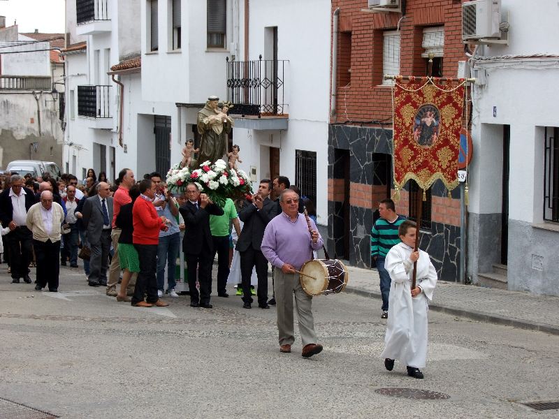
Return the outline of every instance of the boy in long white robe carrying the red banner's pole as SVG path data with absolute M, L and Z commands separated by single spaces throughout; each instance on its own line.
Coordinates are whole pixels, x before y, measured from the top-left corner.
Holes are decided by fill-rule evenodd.
M 386 347 L 381 354 L 389 371 L 394 360 L 407 365 L 407 374 L 423 378 L 419 368 L 427 358 L 428 300 L 433 299 L 437 285 L 437 271 L 428 253 L 414 252 L 416 223 L 404 221 L 398 228 L 401 243 L 386 255 L 385 267 L 390 274 L 389 318 L 386 328 Z M 414 262 L 417 260 L 416 288 L 412 288 Z

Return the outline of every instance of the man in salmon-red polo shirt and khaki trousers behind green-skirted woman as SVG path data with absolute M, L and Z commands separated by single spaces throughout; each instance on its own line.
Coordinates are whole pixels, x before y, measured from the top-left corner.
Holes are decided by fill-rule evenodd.
M 117 215 L 120 212 L 120 207 L 125 204 L 132 202 L 128 191 L 133 184 L 136 183 L 134 179 L 134 172 L 130 169 L 122 169 L 118 174 L 118 179 L 115 182 L 118 184 L 118 189 L 115 195 L 112 196 L 112 231 L 110 233 L 110 238 L 112 240 L 112 248 L 115 249 L 115 256 L 112 256 L 112 262 L 110 263 L 109 279 L 107 281 L 107 295 L 111 297 L 116 297 L 117 295 L 117 284 L 120 277 L 120 260 L 118 257 L 118 239 L 120 237 L 121 230 L 115 225 L 117 220 Z M 126 295 L 132 295 L 134 292 L 134 285 L 136 285 L 136 275 L 133 275 L 126 289 Z

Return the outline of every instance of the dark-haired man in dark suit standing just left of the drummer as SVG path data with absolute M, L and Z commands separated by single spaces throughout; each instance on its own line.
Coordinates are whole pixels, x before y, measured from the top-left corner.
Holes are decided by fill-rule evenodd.
M 236 250 L 240 255 L 240 272 L 242 278 L 242 290 L 245 302 L 243 308 L 249 309 L 252 304 L 252 293 L 250 290 L 250 279 L 252 268 L 256 265 L 256 276 L 258 277 L 258 307 L 269 309 L 268 300 L 268 260 L 262 254 L 260 246 L 266 226 L 275 215 L 275 203 L 268 195 L 271 190 L 270 179 L 260 181 L 258 193 L 251 200 L 242 203 L 239 213 L 240 221 L 244 223 L 241 235 L 238 238 Z

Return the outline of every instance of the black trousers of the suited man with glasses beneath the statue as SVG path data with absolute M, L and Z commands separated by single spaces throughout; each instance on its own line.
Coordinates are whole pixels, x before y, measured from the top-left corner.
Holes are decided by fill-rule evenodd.
M 188 269 L 188 288 L 190 291 L 191 302 L 199 302 L 200 304 L 210 304 L 210 294 L 212 293 L 212 252 L 208 246 L 208 242 L 203 239 L 202 251 L 199 255 L 190 255 L 184 253 L 184 259 L 187 261 Z M 196 267 L 198 267 L 198 283 L 200 284 L 200 293 L 196 289 Z M 199 301 L 198 301 L 199 299 Z

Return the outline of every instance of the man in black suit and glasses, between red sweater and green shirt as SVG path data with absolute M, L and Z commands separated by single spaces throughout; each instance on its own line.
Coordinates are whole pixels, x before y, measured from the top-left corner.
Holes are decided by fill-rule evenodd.
M 198 203 L 200 197 L 200 203 Z M 213 243 L 210 230 L 210 215 L 223 215 L 224 211 L 205 193 L 200 193 L 198 185 L 191 183 L 187 186 L 187 202 L 179 209 L 184 219 L 184 238 L 182 251 L 187 260 L 188 287 L 190 291 L 190 306 L 211 309 L 210 293 L 212 289 L 212 256 Z M 198 265 L 198 282 L 200 295 L 196 289 L 196 265 Z M 250 287 L 249 287 L 250 288 Z

